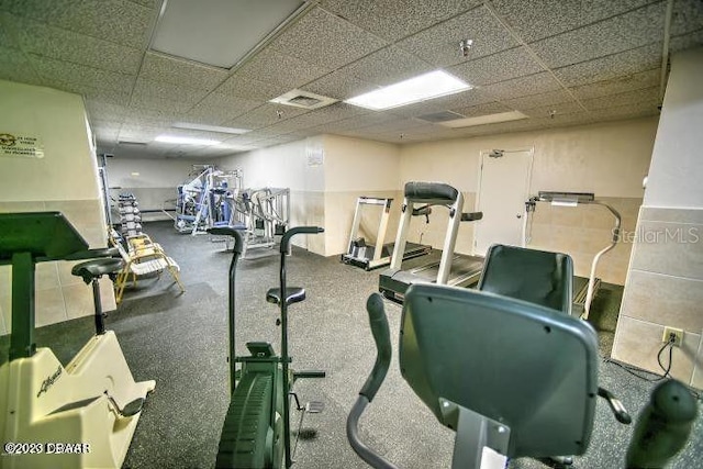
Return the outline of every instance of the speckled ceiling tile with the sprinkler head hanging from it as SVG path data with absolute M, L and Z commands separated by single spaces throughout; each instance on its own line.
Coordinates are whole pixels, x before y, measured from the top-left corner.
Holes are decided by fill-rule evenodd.
M 465 62 L 459 42 L 466 38 L 473 41 L 469 52 L 472 58 L 495 54 L 517 45 L 486 8 L 478 7 L 400 41 L 398 46 L 435 66 L 448 67 Z

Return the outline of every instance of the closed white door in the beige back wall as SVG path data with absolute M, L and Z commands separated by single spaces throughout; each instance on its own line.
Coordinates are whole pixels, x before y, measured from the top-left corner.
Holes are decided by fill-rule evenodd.
M 532 149 L 481 152 L 475 254 L 484 256 L 495 243 L 524 246 L 532 156 Z

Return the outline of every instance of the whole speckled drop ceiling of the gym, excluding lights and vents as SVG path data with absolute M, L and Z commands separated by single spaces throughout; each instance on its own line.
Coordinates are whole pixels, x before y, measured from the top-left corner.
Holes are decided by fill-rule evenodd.
M 673 0 L 663 51 L 667 3 L 320 0 L 226 70 L 148 51 L 161 0 L 0 0 L 0 79 L 82 94 L 99 150 L 118 157 L 208 158 L 320 133 L 405 144 L 559 127 L 657 114 L 662 56 L 703 45 L 703 2 Z M 344 101 L 436 68 L 475 88 L 378 112 L 269 102 L 293 88 Z M 529 118 L 457 130 L 419 119 L 512 110 Z M 175 122 L 252 132 L 219 134 L 216 149 L 115 144 L 208 135 Z

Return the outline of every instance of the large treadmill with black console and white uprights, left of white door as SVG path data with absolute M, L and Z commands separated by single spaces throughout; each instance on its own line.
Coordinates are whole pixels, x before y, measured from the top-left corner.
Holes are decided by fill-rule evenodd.
M 408 230 L 413 215 L 427 214 L 433 206 L 449 210 L 449 223 L 440 252 L 403 263 Z M 483 257 L 455 254 L 454 248 L 461 222 L 481 220 L 481 212 L 461 213 L 464 196 L 442 182 L 411 181 L 405 183 L 404 201 L 391 265 L 379 276 L 379 291 L 384 298 L 402 302 L 405 290 L 413 283 L 437 283 L 455 287 L 476 284 L 483 268 Z M 402 266 L 401 266 L 402 265 Z

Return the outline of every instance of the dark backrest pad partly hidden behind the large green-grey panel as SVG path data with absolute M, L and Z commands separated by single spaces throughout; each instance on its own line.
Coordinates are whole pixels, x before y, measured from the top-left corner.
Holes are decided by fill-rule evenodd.
M 567 254 L 493 245 L 477 288 L 571 314 L 572 279 Z

